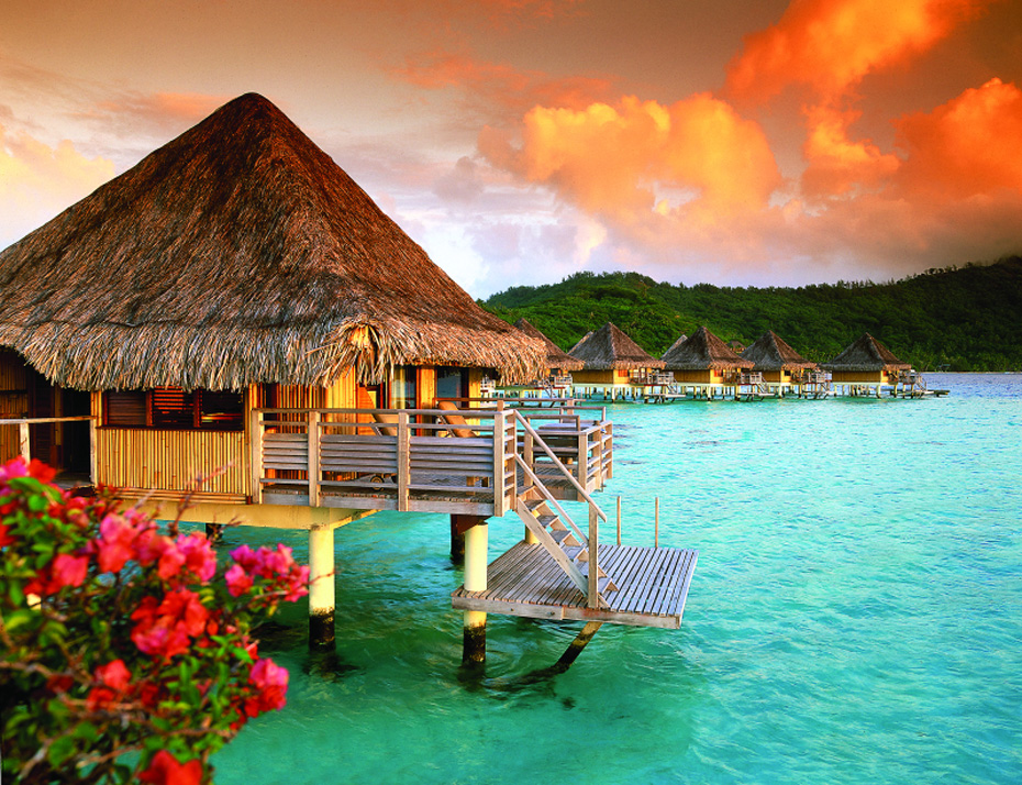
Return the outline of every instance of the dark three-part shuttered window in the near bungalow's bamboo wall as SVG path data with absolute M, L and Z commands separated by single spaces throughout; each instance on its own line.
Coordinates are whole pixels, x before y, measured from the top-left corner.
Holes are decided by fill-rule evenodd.
M 240 431 L 245 400 L 241 393 L 158 387 L 103 394 L 103 424 L 166 431 Z

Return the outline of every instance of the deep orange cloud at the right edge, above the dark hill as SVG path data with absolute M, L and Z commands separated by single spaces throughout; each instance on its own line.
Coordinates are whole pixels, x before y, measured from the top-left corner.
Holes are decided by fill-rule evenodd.
M 899 194 L 938 199 L 1022 194 L 1022 91 L 991 79 L 930 113 L 896 123 L 896 144 L 907 155 Z

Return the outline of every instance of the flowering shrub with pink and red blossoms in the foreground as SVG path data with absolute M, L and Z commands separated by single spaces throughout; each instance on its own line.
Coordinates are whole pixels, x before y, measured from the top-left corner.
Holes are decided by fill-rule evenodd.
M 307 594 L 309 568 L 243 545 L 219 573 L 204 535 L 52 479 L 36 461 L 0 467 L 3 774 L 210 782 L 210 754 L 285 705 L 288 672 L 258 656 L 252 624 Z

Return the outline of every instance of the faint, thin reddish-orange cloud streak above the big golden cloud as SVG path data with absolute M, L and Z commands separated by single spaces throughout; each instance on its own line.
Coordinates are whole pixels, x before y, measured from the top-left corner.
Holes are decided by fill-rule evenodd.
M 536 104 L 581 109 L 611 90 L 606 78 L 552 77 L 444 51 L 409 57 L 402 67 L 391 69 L 391 75 L 431 90 L 462 88 L 476 99 L 520 114 Z

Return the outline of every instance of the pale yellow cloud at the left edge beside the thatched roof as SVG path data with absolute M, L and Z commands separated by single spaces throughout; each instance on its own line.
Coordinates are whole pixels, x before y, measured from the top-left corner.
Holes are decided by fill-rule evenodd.
M 0 247 L 21 239 L 113 177 L 113 164 L 87 158 L 68 141 L 51 147 L 0 125 Z

